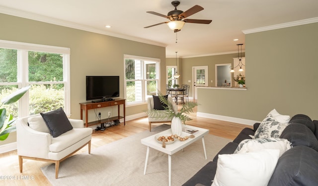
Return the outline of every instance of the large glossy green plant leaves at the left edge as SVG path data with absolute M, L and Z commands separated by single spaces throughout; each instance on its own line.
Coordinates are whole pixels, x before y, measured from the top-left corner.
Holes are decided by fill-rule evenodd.
M 4 97 L 1 100 L 1 105 L 3 104 L 12 104 L 19 100 L 28 90 L 30 89 L 30 86 L 24 87 L 22 89 L 19 89 L 15 91 L 14 93 L 11 93 L 10 95 Z M 6 117 L 6 109 L 0 108 L 0 140 L 4 141 L 10 134 L 10 132 L 14 132 L 16 130 L 14 125 L 15 119 L 13 119 L 12 114 L 9 114 L 8 117 Z

